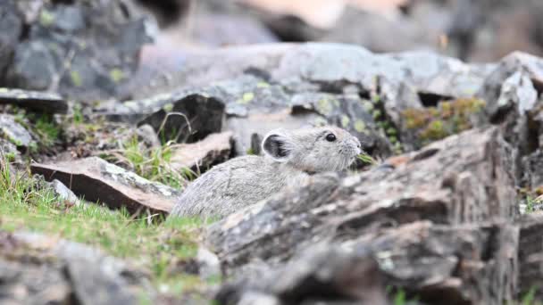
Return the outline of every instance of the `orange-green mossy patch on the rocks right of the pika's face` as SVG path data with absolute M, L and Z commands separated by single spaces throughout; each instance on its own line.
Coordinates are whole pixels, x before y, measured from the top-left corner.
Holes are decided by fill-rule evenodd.
M 424 145 L 472 128 L 472 116 L 484 106 L 480 99 L 460 98 L 438 107 L 405 110 L 402 119 L 404 128 L 414 131 L 419 145 Z

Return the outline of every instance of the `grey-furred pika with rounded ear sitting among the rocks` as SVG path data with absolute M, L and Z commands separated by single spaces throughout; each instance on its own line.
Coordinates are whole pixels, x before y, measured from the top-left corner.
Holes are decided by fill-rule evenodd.
M 332 126 L 273 130 L 262 150 L 264 156 L 241 156 L 205 172 L 180 195 L 171 215 L 224 218 L 285 187 L 305 185 L 315 173 L 347 169 L 362 152 L 355 136 Z

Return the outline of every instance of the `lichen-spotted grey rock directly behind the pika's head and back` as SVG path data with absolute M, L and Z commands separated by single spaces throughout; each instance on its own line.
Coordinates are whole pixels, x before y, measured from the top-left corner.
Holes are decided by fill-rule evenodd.
M 128 119 L 138 116 L 138 113 L 146 113 L 162 107 L 163 109 L 142 121 L 151 123 L 157 130 L 167 113 L 164 109 L 170 108 L 169 111 L 179 109 L 191 120 L 190 118 L 194 115 L 189 110 L 182 110 L 175 105 L 205 103 L 206 99 L 214 99 L 226 105 L 226 122 L 223 129 L 232 131 L 237 137 L 236 152 L 238 154 L 245 154 L 251 148 L 253 134 L 263 136 L 273 128 L 301 128 L 326 123 L 345 128 L 357 136 L 366 152 L 380 156 L 390 154 L 391 145 L 381 136 L 382 132 L 379 130 L 386 129 L 386 124 L 378 126 L 373 120 L 373 115 L 378 112 L 377 106 L 369 101 L 363 101 L 356 94 L 293 93 L 290 91 L 280 83 L 268 82 L 252 75 L 243 75 L 231 80 L 215 82 L 208 87 L 181 89 L 168 95 L 129 101 L 124 103 L 122 108 L 110 110 L 106 115 L 109 118 Z M 195 99 L 192 98 L 194 95 L 202 95 L 204 98 L 194 101 Z M 180 102 L 174 102 L 171 109 L 171 102 L 178 99 Z M 183 118 L 178 119 L 183 120 Z M 164 128 L 170 130 L 171 126 L 182 128 L 185 125 L 185 122 L 179 121 L 176 124 L 167 123 Z M 196 125 L 193 129 L 202 130 L 201 127 L 197 127 Z M 188 142 L 192 142 L 192 139 L 188 139 Z

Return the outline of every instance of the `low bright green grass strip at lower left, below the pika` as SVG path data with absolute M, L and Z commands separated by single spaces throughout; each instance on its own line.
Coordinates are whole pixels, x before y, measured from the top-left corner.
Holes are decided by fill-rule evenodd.
M 86 243 L 147 270 L 156 288 L 178 294 L 205 283 L 184 269 L 196 255 L 199 218 L 163 222 L 134 218 L 99 204 L 71 205 L 28 175 L 0 171 L 0 229 L 31 231 Z

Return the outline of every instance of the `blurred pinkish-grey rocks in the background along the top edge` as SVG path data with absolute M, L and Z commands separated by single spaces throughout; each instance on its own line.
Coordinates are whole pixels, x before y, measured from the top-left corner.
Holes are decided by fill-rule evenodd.
M 432 49 L 470 62 L 496 61 L 515 50 L 543 54 L 538 0 L 138 2 L 152 8 L 171 37 L 182 33 L 198 45 L 319 40 L 372 52 Z

